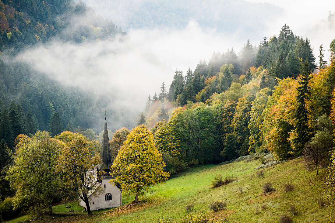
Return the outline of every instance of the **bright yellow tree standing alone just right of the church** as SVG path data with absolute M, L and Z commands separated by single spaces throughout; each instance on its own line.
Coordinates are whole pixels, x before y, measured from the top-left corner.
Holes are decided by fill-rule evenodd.
M 114 160 L 115 179 L 111 183 L 121 184 L 125 194 L 135 193 L 135 202 L 139 194 L 156 184 L 163 183 L 170 174 L 163 171 L 165 163 L 155 148 L 152 132 L 145 125 L 132 129 Z

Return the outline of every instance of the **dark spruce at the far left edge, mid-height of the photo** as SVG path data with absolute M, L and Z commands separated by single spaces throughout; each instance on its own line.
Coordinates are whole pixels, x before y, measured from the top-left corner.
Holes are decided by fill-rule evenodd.
M 13 133 L 11 129 L 11 121 L 7 108 L 1 111 L 1 122 L 0 122 L 0 139 L 4 139 L 6 144 L 13 148 Z

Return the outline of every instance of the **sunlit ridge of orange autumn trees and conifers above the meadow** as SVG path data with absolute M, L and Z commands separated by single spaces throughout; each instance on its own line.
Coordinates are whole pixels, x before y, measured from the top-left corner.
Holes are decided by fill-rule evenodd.
M 333 55 L 334 41 L 330 47 Z M 158 96 L 149 96 L 139 124 L 153 128 L 175 173 L 259 152 L 279 160 L 301 156 L 307 142 L 322 144 L 321 132 L 333 138 L 334 59 L 328 65 L 322 45 L 319 52 L 315 57 L 309 39 L 286 24 L 258 46 L 248 40 L 238 53 L 213 52 L 194 71 L 176 70 L 170 87 L 163 83 Z M 324 125 L 331 130 L 323 132 Z

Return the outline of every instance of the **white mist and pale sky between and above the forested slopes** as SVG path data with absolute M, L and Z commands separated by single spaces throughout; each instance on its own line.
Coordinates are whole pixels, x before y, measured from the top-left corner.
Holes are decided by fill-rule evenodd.
M 137 6 L 146 2 L 133 1 Z M 214 4 L 211 7 L 214 9 L 215 2 L 220 2 L 222 7 L 225 2 L 229 3 L 229 0 L 222 1 L 223 3 L 211 1 Z M 143 18 L 143 15 L 134 14 L 141 13 L 142 8 L 133 9 L 131 4 L 127 5 L 128 1 L 107 1 L 108 4 L 106 0 L 83 2 L 103 17 L 127 24 L 121 27 L 127 32 L 122 41 L 121 37 L 117 37 L 114 40 L 77 45 L 64 44 L 55 39 L 22 52 L 19 58 L 66 86 L 79 87 L 101 95 L 106 93 L 103 89 L 108 88 L 108 93 L 114 95 L 110 107 L 122 104 L 122 107 L 128 106 L 128 109 L 135 109 L 138 113 L 144 109 L 149 94 L 152 96 L 155 92 L 159 93 L 162 82 L 170 85 L 176 69 L 184 73 L 189 67 L 194 70 L 199 60 L 208 61 L 213 51 L 222 52 L 233 47 L 238 53 L 248 38 L 252 44 L 258 45 L 264 35 L 278 35 L 285 23 L 291 27 L 294 34 L 309 37 L 316 57 L 320 44 L 323 44 L 326 49 L 325 58 L 329 58 L 329 43 L 335 38 L 335 18 L 328 21 L 329 11 L 335 12 L 335 1 L 250 0 L 252 6 L 261 9 L 255 13 L 245 11 L 250 7 L 250 2 L 238 1 L 241 11 L 229 12 L 229 7 L 224 8 L 225 11 L 222 12 L 215 9 L 212 16 L 217 20 L 216 23 L 206 24 L 206 14 L 198 15 L 197 12 L 192 12 L 189 18 L 183 15 L 181 19 L 185 24 L 178 27 L 164 23 L 150 26 L 152 21 L 158 19 L 155 12 L 153 15 L 156 17 L 150 13 L 152 10 L 159 12 L 159 7 L 147 10 L 152 17 L 152 20 L 151 17 L 148 20 Z M 118 11 L 115 11 L 115 2 L 120 3 L 120 6 L 117 5 L 120 7 L 117 8 Z M 192 4 L 198 3 L 201 8 L 206 2 L 198 0 L 192 1 Z M 229 4 L 235 3 L 230 1 Z M 243 7 L 243 4 L 247 6 Z M 206 10 L 204 11 L 202 13 L 206 13 Z M 147 25 L 141 27 L 141 24 L 134 20 L 138 17 L 147 22 Z M 224 18 L 223 22 L 221 17 Z M 179 19 L 178 15 L 176 18 Z M 216 24 L 222 24 L 224 28 L 215 27 Z

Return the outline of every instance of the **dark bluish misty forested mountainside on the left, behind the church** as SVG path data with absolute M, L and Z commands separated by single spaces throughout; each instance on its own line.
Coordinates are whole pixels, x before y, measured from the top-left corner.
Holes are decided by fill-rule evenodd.
M 83 18 L 85 22 L 76 23 Z M 15 60 L 19 52 L 52 39 L 80 44 L 114 38 L 117 34 L 125 33 L 82 2 L 0 1 L 0 134 L 10 148 L 20 133 L 51 130 L 56 112 L 59 113 L 57 134 L 77 126 L 93 128 L 96 116 L 109 103 L 106 98 L 50 80 L 28 64 Z

